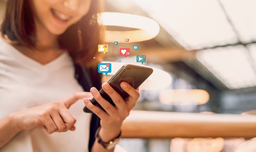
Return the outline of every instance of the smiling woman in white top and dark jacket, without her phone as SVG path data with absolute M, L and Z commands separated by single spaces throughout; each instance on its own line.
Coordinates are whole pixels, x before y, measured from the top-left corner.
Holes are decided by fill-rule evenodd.
M 123 100 L 103 83 L 113 107 L 91 87 L 100 83 L 94 72 L 104 33 L 95 19 L 99 7 L 99 0 L 7 0 L 0 38 L 0 151 L 114 151 L 109 141 L 118 141 L 139 92 L 122 82 L 130 95 Z M 92 97 L 106 112 L 90 103 Z M 84 105 L 101 127 L 82 112 Z

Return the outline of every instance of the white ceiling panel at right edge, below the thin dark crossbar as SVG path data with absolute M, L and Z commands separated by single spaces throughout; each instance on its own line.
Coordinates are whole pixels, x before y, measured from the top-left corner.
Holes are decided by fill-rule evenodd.
M 250 56 L 242 45 L 198 51 L 196 58 L 229 89 L 256 86 Z

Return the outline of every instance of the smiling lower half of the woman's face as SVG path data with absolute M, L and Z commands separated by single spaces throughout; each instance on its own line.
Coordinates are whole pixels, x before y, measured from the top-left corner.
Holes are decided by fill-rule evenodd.
M 60 35 L 90 9 L 91 0 L 31 0 L 38 30 Z

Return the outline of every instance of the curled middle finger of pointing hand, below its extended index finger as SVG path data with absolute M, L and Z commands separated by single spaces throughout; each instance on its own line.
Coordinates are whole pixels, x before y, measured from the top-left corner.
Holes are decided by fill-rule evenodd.
M 76 123 L 76 118 L 68 110 L 60 110 L 60 115 L 66 126 L 64 131 L 70 130 Z

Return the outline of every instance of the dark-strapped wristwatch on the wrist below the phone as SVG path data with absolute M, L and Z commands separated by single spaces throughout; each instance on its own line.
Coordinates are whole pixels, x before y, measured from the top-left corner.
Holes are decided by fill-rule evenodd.
M 98 143 L 100 143 L 105 149 L 107 150 L 110 150 L 112 148 L 115 147 L 115 145 L 117 145 L 117 143 L 120 141 L 120 137 L 121 137 L 121 131 L 120 131 L 120 134 L 112 139 L 111 141 L 109 142 L 105 142 L 105 141 L 102 141 L 101 137 L 99 136 L 99 130 L 101 130 L 101 127 L 99 127 L 95 133 L 95 138 L 98 138 Z

